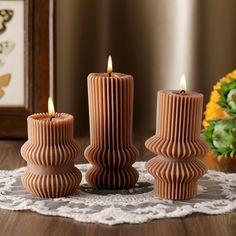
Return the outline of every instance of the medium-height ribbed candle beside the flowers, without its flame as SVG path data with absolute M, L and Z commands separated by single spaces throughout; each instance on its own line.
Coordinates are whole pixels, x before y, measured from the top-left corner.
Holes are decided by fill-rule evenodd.
M 156 134 L 145 145 L 159 154 L 146 167 L 161 198 L 181 200 L 197 194 L 197 180 L 207 170 L 197 158 L 208 150 L 200 138 L 202 104 L 199 93 L 158 92 Z

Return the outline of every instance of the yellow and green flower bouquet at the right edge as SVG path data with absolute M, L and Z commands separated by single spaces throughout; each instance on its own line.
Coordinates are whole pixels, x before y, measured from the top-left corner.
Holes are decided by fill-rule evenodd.
M 205 157 L 209 168 L 236 171 L 236 70 L 214 86 L 206 106 L 203 136 L 212 151 Z

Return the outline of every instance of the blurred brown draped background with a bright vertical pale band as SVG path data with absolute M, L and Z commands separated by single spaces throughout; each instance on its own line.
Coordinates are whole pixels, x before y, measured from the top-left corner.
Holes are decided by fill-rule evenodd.
M 236 68 L 235 0 L 57 0 L 57 109 L 89 131 L 87 75 L 106 70 L 135 78 L 134 131 L 155 129 L 156 92 L 205 95 Z

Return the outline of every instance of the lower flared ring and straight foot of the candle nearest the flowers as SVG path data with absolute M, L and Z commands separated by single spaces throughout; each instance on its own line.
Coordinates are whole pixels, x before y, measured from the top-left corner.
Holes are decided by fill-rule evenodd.
M 169 200 L 195 197 L 197 181 L 207 172 L 207 167 L 197 157 L 175 159 L 157 156 L 146 163 L 146 168 L 155 178 L 155 195 Z

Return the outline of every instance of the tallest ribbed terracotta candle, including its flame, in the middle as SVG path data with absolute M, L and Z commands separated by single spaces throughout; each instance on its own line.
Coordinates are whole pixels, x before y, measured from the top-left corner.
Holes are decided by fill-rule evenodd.
M 138 151 L 132 144 L 134 80 L 131 75 L 108 73 L 88 76 L 90 145 L 85 157 L 93 165 L 86 173 L 100 189 L 132 188 L 138 172 L 132 167 Z

